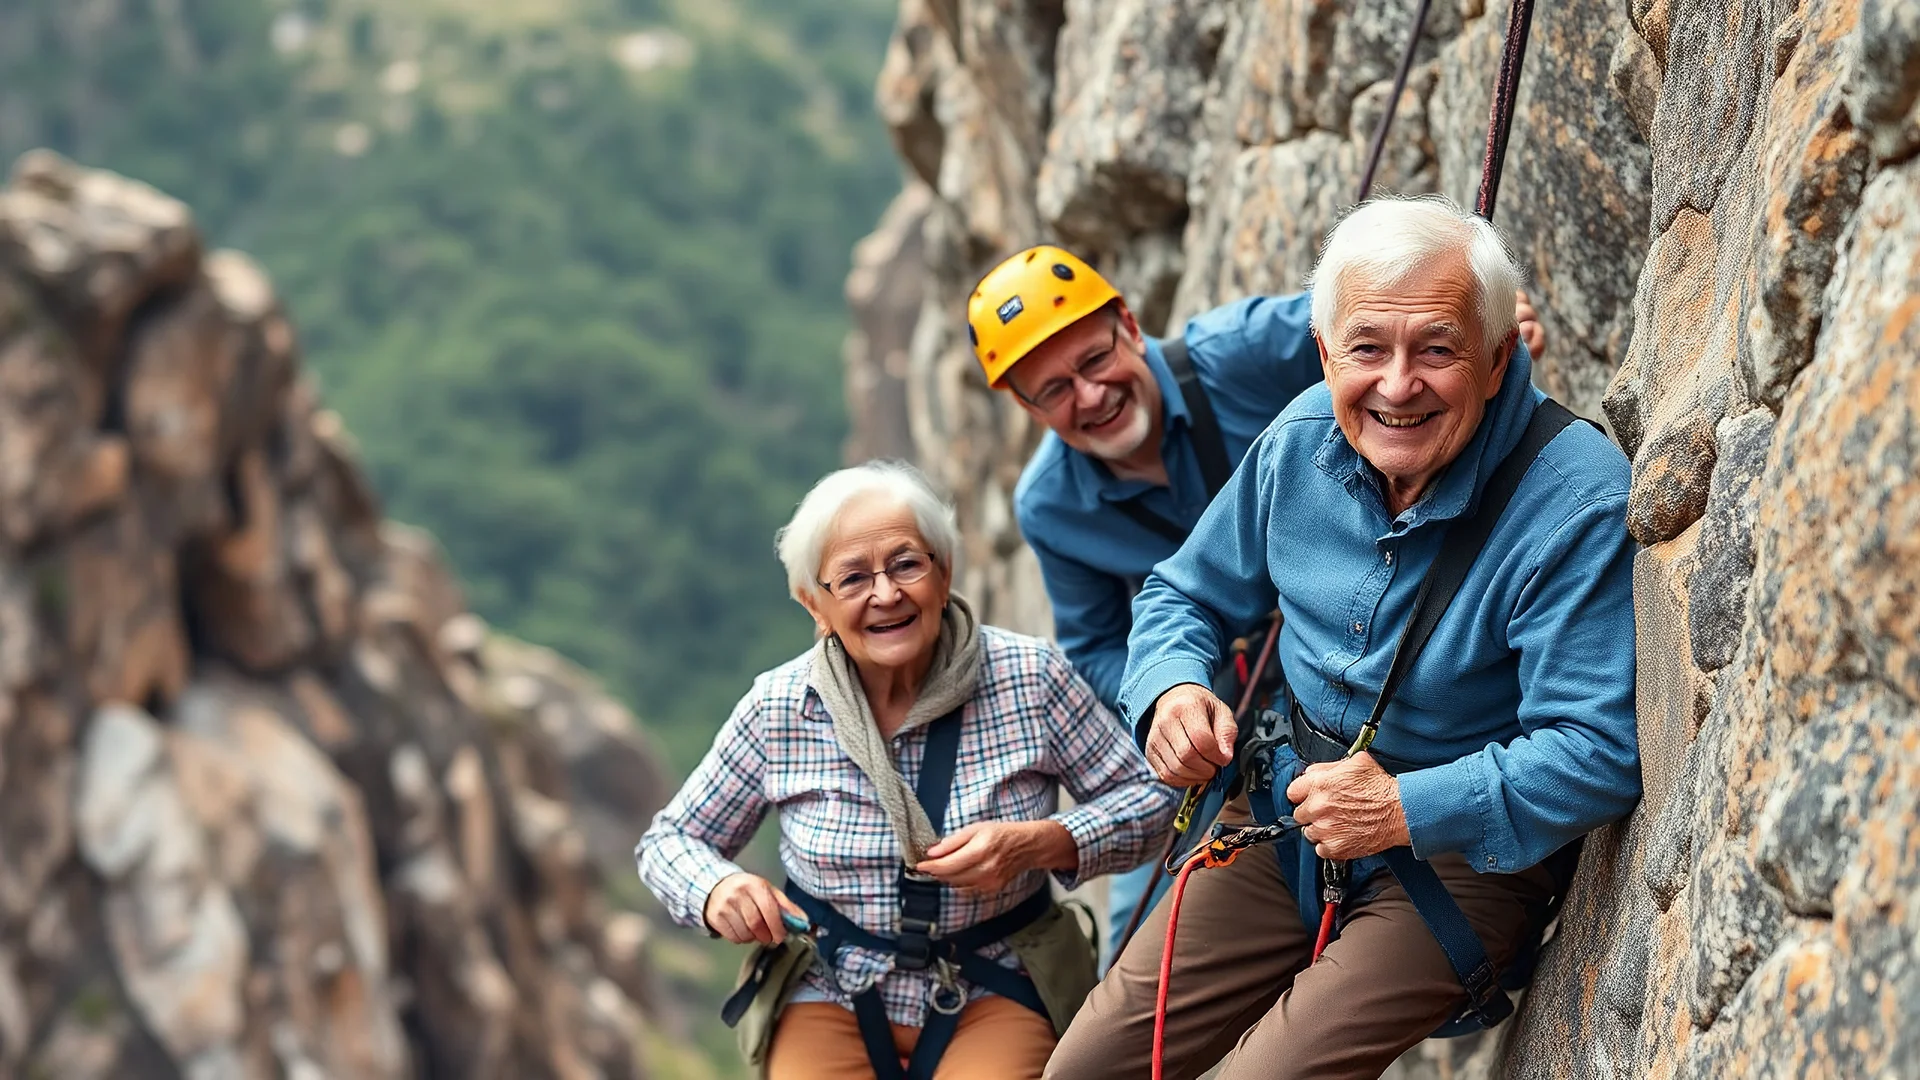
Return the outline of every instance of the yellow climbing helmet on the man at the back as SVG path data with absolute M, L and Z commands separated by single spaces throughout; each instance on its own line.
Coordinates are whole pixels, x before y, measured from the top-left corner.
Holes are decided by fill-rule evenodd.
M 1002 388 L 1006 371 L 1041 342 L 1117 298 L 1100 271 L 1052 244 L 993 267 L 966 302 L 968 334 L 987 384 Z

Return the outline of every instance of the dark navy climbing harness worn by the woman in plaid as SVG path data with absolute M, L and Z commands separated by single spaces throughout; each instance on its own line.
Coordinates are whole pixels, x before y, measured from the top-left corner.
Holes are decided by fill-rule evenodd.
M 927 724 L 927 749 L 920 765 L 920 780 L 914 796 L 927 811 L 933 832 L 941 832 L 947 821 L 947 803 L 952 794 L 954 769 L 960 759 L 960 711 L 954 709 Z M 806 913 L 808 934 L 818 944 L 828 974 L 837 972 L 843 949 L 870 949 L 891 953 L 897 970 L 931 970 L 935 988 L 927 1001 L 927 1020 L 920 1028 L 920 1042 L 900 1068 L 900 1059 L 893 1045 L 893 1028 L 887 1022 L 887 1007 L 879 997 L 879 984 L 851 995 L 854 1020 L 860 1028 L 860 1042 L 866 1043 L 868 1061 L 874 1065 L 877 1080 L 931 1080 L 941 1055 L 960 1026 L 960 1011 L 966 1007 L 968 992 L 964 984 L 979 986 L 989 994 L 998 994 L 1018 1001 L 1050 1020 L 1046 1003 L 1033 978 L 1002 967 L 979 953 L 979 949 L 1002 942 L 1035 924 L 1054 907 L 1052 894 L 1041 886 L 1033 896 L 1016 903 L 1010 911 L 995 915 L 952 932 L 941 930 L 941 896 L 947 886 L 900 867 L 900 930 L 895 938 L 883 938 L 847 919 L 828 901 L 808 894 L 791 878 L 783 892 Z M 747 1005 L 760 992 L 762 972 L 733 992 L 722 1007 L 722 1019 L 735 1024 L 745 1015 Z

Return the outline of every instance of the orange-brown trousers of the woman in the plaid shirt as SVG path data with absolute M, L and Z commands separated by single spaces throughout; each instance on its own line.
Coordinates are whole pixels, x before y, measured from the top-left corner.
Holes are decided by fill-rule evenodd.
M 920 1028 L 893 1024 L 893 1049 L 906 1057 Z M 1054 1026 L 1006 997 L 981 997 L 960 1011 L 954 1042 L 933 1080 L 1039 1080 L 1054 1051 Z M 766 1051 L 766 1080 L 858 1080 L 874 1076 L 860 1024 L 851 1009 L 828 1001 L 787 1005 Z

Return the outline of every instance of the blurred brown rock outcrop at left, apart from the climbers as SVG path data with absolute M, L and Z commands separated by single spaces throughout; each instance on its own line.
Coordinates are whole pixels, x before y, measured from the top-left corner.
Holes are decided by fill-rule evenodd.
M 382 523 L 250 259 L 0 190 L 0 1076 L 643 1076 L 632 717 Z

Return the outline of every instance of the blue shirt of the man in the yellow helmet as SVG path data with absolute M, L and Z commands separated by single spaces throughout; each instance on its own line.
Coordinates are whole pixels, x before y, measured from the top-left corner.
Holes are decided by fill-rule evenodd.
M 1256 296 L 1196 315 L 1187 323 L 1187 356 L 1213 405 L 1229 465 L 1240 461 L 1286 402 L 1321 380 L 1319 350 L 1308 334 L 1308 294 Z M 1054 636 L 1108 705 L 1119 700 L 1127 667 L 1133 594 L 1154 563 L 1177 548 L 1114 503 L 1139 496 L 1181 530 L 1190 530 L 1208 505 L 1192 417 L 1152 338 L 1146 365 L 1164 404 L 1165 486 L 1116 479 L 1104 463 L 1046 432 L 1014 488 L 1014 515 L 1041 561 L 1054 607 Z

